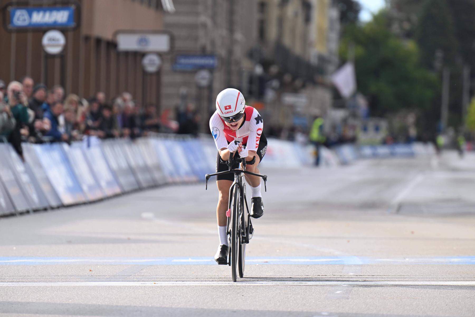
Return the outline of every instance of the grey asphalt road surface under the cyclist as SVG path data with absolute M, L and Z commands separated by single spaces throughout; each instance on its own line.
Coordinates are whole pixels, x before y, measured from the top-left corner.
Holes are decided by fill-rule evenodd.
M 0 316 L 475 316 L 475 158 L 274 170 L 245 278 L 217 190 L 0 219 Z

